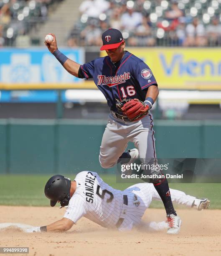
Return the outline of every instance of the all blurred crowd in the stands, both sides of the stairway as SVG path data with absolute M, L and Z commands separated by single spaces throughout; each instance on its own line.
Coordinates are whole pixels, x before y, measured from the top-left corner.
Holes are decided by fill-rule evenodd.
M 32 44 L 30 29 L 60 1 L 0 0 L 0 46 Z M 221 0 L 83 0 L 68 46 L 100 46 L 107 28 L 129 46 L 221 46 Z

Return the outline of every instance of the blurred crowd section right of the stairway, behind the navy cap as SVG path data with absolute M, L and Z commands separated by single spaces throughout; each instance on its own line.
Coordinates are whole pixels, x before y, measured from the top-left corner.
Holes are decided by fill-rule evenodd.
M 100 46 L 107 28 L 129 46 L 220 46 L 221 0 L 84 0 L 69 46 Z

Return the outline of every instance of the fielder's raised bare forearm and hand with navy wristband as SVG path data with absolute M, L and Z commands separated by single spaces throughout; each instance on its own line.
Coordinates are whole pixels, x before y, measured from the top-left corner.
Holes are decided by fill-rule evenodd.
M 48 47 L 48 50 L 58 59 L 58 61 L 62 64 L 62 66 L 75 77 L 78 77 L 78 71 L 80 64 L 76 63 L 75 61 L 72 61 L 71 59 L 68 59 L 64 54 L 62 54 L 58 50 L 56 37 L 54 34 L 49 34 L 53 36 L 53 41 L 46 40 L 45 45 Z

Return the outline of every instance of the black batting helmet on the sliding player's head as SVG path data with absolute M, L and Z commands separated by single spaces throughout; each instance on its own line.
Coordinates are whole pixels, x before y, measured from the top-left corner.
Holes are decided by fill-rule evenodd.
M 61 206 L 69 204 L 71 189 L 71 179 L 63 175 L 54 175 L 45 185 L 45 195 L 50 199 L 50 205 L 55 206 L 60 201 Z

